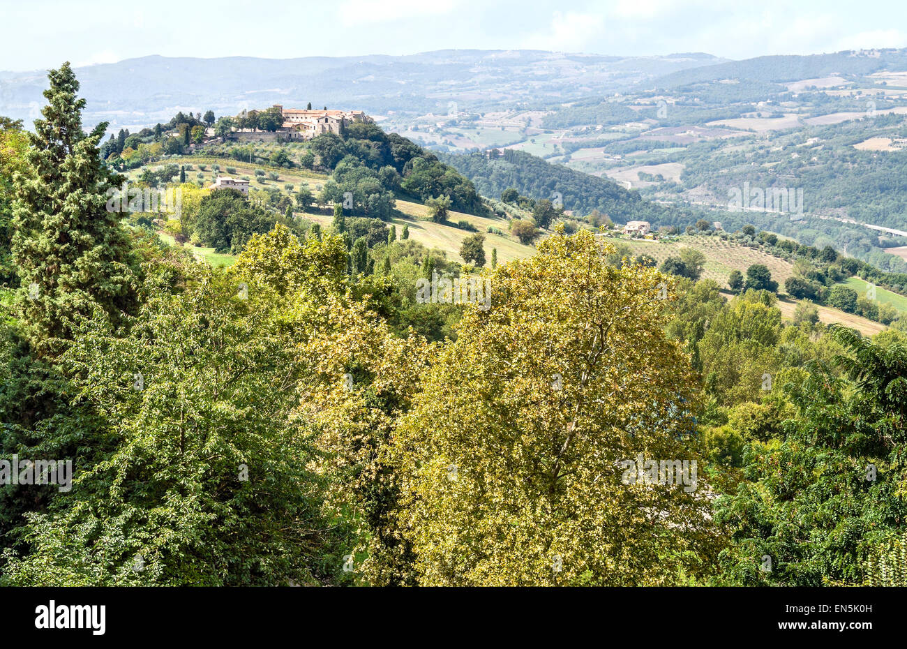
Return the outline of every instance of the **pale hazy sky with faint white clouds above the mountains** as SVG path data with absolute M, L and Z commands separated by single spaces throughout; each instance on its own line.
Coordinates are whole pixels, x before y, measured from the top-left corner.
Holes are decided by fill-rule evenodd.
M 0 15 L 0 70 L 147 54 L 291 58 L 524 48 L 740 59 L 907 46 L 904 0 L 0 0 Z

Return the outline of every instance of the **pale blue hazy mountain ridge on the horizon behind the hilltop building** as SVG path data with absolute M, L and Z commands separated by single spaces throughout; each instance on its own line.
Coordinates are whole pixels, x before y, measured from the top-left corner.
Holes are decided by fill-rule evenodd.
M 261 59 L 144 56 L 76 68 L 86 126 L 133 131 L 178 111 L 235 114 L 274 103 L 367 113 L 503 110 L 639 89 L 652 80 L 727 62 L 711 54 L 621 57 L 532 50 L 441 50 L 407 56 Z M 62 63 L 62 62 L 61 62 Z M 26 122 L 44 105 L 45 71 L 0 73 L 0 114 Z

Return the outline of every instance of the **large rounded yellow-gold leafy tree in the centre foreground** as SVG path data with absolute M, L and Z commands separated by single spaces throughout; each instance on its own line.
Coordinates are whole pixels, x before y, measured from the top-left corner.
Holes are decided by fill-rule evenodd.
M 539 251 L 493 274 L 491 309 L 467 311 L 396 429 L 420 583 L 670 583 L 707 536 L 707 487 L 620 469 L 693 458 L 697 379 L 662 329 L 665 279 L 610 268 L 589 232 Z

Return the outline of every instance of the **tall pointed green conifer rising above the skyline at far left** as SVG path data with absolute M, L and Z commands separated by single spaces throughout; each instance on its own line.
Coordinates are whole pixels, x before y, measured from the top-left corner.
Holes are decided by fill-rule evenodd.
M 15 175 L 13 257 L 22 280 L 17 304 L 39 355 L 72 339 L 79 315 L 100 307 L 115 325 L 135 302 L 132 253 L 107 190 L 119 185 L 101 161 L 107 123 L 82 130 L 84 99 L 69 63 L 48 74 L 44 119 L 34 121 L 28 169 Z

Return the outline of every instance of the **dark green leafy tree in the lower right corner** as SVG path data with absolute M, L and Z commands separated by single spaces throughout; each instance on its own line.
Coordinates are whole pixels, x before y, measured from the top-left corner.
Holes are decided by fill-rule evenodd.
M 796 410 L 783 438 L 750 447 L 746 483 L 718 503 L 734 539 L 724 583 L 862 583 L 873 573 L 863 547 L 902 532 L 907 349 L 850 329 L 834 337 L 849 350 L 836 361 L 855 389 L 818 366 L 785 387 Z M 766 556 L 771 570 L 760 570 Z

